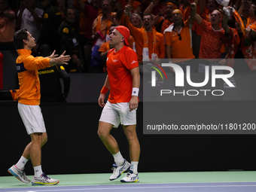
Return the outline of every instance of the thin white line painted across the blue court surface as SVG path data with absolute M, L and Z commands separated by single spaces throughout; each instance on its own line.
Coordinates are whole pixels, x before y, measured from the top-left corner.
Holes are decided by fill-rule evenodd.
M 189 188 L 189 187 L 256 187 L 256 185 L 209 185 L 209 186 L 166 186 L 166 187 L 109 187 L 109 188 L 81 188 L 81 189 L 49 189 L 49 190 L 34 190 L 34 192 L 39 191 L 65 191 L 65 190 L 120 190 L 120 189 L 151 189 L 151 188 Z M 28 191 L 28 190 L 23 190 Z M 17 192 L 17 190 L 9 191 L 9 192 Z

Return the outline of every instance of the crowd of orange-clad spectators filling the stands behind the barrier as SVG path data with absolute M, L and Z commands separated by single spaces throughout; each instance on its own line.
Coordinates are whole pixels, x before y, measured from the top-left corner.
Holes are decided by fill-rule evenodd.
M 180 59 L 191 72 L 215 65 L 253 72 L 255 21 L 254 0 L 0 0 L 0 51 L 15 50 L 14 32 L 28 29 L 37 43 L 33 56 L 47 44 L 72 57 L 66 72 L 107 72 L 109 35 L 123 25 L 140 70 L 143 62 Z

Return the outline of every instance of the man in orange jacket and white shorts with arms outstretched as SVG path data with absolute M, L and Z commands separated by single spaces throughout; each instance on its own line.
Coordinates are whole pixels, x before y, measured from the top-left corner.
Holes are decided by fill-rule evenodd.
M 17 90 L 15 99 L 18 100 L 20 117 L 31 137 L 31 142 L 26 146 L 17 164 L 11 166 L 8 172 L 29 184 L 31 180 L 26 176 L 24 167 L 31 159 L 35 171 L 35 176 L 32 178 L 33 185 L 58 184 L 58 179 L 48 178 L 41 169 L 41 147 L 47 142 L 47 133 L 39 106 L 41 95 L 38 69 L 54 66 L 57 63 L 68 64 L 70 56 L 65 56 L 65 51 L 58 57 L 54 54 L 55 51 L 46 58 L 32 56 L 31 50 L 36 45 L 35 38 L 26 29 L 15 32 L 14 45 L 19 54 L 16 66 L 20 84 L 20 90 Z

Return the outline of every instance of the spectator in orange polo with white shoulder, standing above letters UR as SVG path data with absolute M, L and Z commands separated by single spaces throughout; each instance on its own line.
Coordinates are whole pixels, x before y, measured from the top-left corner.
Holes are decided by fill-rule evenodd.
M 192 50 L 191 28 L 194 23 L 194 10 L 190 12 L 191 17 L 183 22 L 183 14 L 179 9 L 172 11 L 174 23 L 165 31 L 166 58 L 178 59 L 178 64 L 184 70 L 190 66 L 190 72 L 196 72 L 191 59 L 195 56 Z M 188 60 L 188 61 L 187 61 Z M 185 71 L 185 70 L 184 70 Z

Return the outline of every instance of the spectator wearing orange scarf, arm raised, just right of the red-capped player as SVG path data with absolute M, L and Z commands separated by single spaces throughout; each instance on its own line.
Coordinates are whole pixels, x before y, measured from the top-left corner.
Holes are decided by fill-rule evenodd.
M 165 47 L 163 44 L 163 34 L 157 32 L 154 26 L 152 26 L 153 17 L 151 14 L 145 14 L 143 16 L 143 27 L 141 29 L 136 28 L 130 23 L 129 13 L 130 5 L 126 5 L 124 24 L 130 29 L 131 35 L 133 35 L 136 41 L 136 52 L 139 62 L 147 62 L 155 59 L 164 59 Z M 141 68 L 142 69 L 142 68 Z

